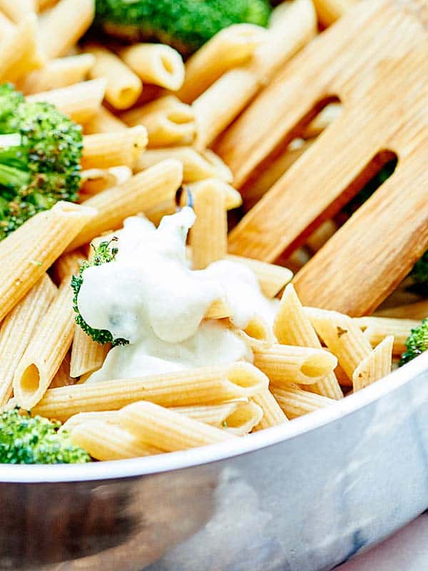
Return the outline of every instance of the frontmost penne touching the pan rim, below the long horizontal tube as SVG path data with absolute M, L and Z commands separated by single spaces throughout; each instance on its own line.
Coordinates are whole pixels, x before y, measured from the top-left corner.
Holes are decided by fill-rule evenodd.
M 165 452 L 187 450 L 235 438 L 226 430 L 153 403 L 133 403 L 119 412 L 121 426 L 138 440 Z

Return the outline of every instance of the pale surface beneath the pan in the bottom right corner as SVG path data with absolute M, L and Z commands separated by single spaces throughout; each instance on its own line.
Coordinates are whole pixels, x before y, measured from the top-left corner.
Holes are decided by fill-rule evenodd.
M 428 515 L 409 523 L 337 571 L 428 571 Z

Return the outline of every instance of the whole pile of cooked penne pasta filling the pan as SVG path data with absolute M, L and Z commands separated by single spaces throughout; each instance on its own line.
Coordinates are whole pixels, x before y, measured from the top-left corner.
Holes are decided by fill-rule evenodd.
M 223 29 L 185 64 L 161 44 L 77 46 L 93 21 L 93 0 L 4 0 L 0 8 L 0 81 L 13 82 L 29 101 L 54 103 L 84 133 L 80 203 L 58 202 L 0 242 L 1 409 L 19 406 L 61 420 L 61 430 L 92 458 L 117 460 L 285 424 L 390 372 L 427 303 L 362 318 L 303 307 L 285 267 L 299 268 L 302 251 L 284 266 L 228 254 L 228 211 L 242 198 L 210 146 L 315 36 L 311 0 L 278 6 L 268 29 Z M 245 208 L 338 113 L 339 104 L 327 106 L 260 173 Z M 254 310 L 238 326 L 231 298 L 219 297 L 203 323 L 233 330 L 250 357 L 89 381 L 116 348 L 96 343 L 75 323 L 71 276 L 91 257 L 90 244 L 120 233 L 126 218 L 144 215 L 158 225 L 172 215 L 183 185 L 196 215 L 187 263 L 193 271 L 218 261 L 249 268 L 260 295 L 277 299 L 275 315 L 269 320 Z M 336 229 L 334 221 L 322 224 L 308 238 L 309 251 Z

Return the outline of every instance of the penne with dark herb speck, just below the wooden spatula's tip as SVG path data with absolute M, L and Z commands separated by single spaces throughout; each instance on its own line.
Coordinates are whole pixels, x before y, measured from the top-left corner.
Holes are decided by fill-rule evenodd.
M 352 378 L 355 368 L 372 346 L 352 318 L 338 311 L 305 308 L 317 334 L 337 356 L 340 366 Z

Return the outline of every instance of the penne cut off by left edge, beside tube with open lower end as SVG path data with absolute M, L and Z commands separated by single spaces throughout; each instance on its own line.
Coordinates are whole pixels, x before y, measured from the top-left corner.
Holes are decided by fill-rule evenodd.
M 0 410 L 11 396 L 16 366 L 55 295 L 56 287 L 45 273 L 1 323 Z

